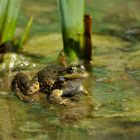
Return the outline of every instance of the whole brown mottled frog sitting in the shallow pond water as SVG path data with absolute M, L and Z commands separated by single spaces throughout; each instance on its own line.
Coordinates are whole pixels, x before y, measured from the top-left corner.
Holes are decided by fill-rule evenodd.
M 88 76 L 84 65 L 65 67 L 50 64 L 37 72 L 31 80 L 23 72 L 18 72 L 11 87 L 17 97 L 25 102 L 33 102 L 33 97 L 41 92 L 51 103 L 66 104 L 69 98 L 87 93 L 82 82 Z

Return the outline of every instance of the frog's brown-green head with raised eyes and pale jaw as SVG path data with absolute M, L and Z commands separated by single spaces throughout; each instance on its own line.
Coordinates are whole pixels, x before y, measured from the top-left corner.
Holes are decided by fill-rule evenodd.
M 89 76 L 84 65 L 69 66 L 65 69 L 63 74 L 59 76 L 59 80 L 74 80 L 85 79 Z

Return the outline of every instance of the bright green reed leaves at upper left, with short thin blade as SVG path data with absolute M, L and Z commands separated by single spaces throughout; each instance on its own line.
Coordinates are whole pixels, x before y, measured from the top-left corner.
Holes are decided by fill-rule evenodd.
M 0 45 L 14 41 L 20 5 L 21 0 L 0 0 Z M 28 37 L 31 24 L 32 19 L 29 20 L 21 41 L 16 41 L 17 48 L 20 48 Z

